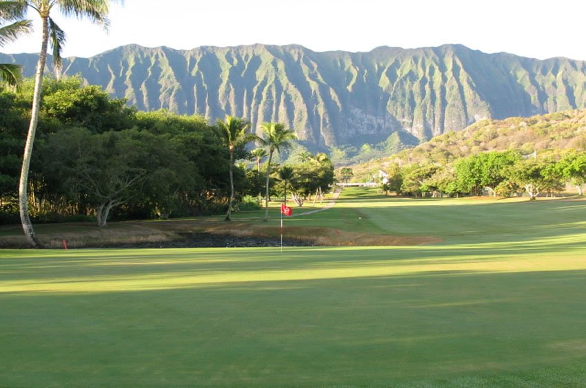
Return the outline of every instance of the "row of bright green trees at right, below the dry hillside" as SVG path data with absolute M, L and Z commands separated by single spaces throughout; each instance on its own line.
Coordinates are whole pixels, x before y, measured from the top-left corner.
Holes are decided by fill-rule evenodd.
M 566 183 L 582 195 L 586 184 L 586 153 L 576 150 L 522 155 L 518 151 L 489 151 L 449 164 L 392 164 L 381 182 L 383 192 L 413 197 L 483 195 L 508 197 L 525 193 L 563 191 Z

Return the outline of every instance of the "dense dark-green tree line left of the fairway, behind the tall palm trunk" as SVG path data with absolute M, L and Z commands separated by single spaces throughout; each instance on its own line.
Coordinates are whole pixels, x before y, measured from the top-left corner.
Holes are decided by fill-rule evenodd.
M 0 221 L 18 221 L 18 181 L 34 85 L 0 89 Z M 324 154 L 274 162 L 294 132 L 264 123 L 262 136 L 228 116 L 137 111 L 80 78 L 47 78 L 28 180 L 34 222 L 185 217 L 259 206 L 259 197 L 303 199 L 326 191 L 334 167 Z M 259 146 L 250 151 L 252 144 Z M 267 214 L 265 215 L 265 218 Z

